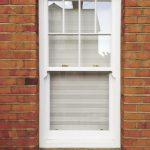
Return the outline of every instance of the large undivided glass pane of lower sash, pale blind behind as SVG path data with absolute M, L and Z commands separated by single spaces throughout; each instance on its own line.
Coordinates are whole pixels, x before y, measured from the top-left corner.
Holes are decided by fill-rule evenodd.
M 50 80 L 51 130 L 108 130 L 109 75 L 55 72 Z

